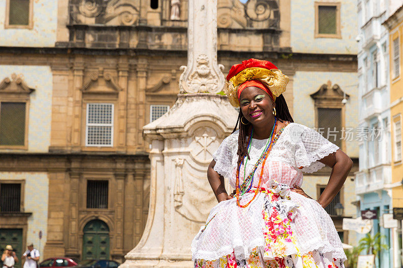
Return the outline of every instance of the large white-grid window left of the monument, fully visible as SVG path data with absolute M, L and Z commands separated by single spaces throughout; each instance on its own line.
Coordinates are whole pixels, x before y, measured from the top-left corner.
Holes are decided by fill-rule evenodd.
M 87 104 L 86 146 L 113 146 L 113 104 Z

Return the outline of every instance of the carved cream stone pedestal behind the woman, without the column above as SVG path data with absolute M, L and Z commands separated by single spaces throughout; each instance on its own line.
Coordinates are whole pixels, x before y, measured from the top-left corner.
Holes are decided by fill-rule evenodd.
M 121 267 L 192 267 L 191 241 L 217 204 L 207 167 L 237 114 L 226 96 L 185 94 L 144 127 L 152 143 L 150 209 L 142 239 Z

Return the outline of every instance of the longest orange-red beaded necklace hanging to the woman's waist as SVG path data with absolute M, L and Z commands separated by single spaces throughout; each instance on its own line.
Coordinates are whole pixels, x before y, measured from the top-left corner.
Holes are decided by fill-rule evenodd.
M 246 208 L 247 206 L 249 206 L 250 203 L 252 203 L 252 201 L 255 199 L 255 197 L 257 196 L 257 193 L 259 192 L 259 188 L 260 188 L 260 183 L 261 183 L 261 178 L 263 176 L 263 167 L 264 167 L 264 163 L 266 162 L 267 156 L 270 153 L 270 151 L 272 150 L 273 147 L 273 139 L 276 135 L 273 135 L 273 133 L 276 133 L 276 129 L 277 129 L 277 118 L 275 118 L 275 124 L 272 130 L 272 133 L 270 134 L 270 143 L 268 143 L 268 146 L 263 150 L 263 153 L 260 155 L 259 159 L 257 160 L 256 164 L 254 164 L 252 172 L 250 172 L 250 174 L 248 175 L 248 178 L 246 179 L 248 182 L 250 182 L 250 187 L 248 187 L 248 191 L 250 190 L 252 183 L 253 183 L 253 174 L 257 168 L 257 166 L 260 164 L 260 162 L 262 162 L 262 166 L 261 166 L 261 170 L 260 170 L 260 176 L 259 176 L 259 182 L 257 185 L 257 188 L 255 189 L 255 193 L 253 195 L 253 198 L 245 205 L 241 205 L 239 203 L 239 198 L 240 198 L 240 191 L 242 189 L 242 192 L 244 192 L 246 186 L 247 186 L 247 181 L 245 181 L 241 186 L 239 186 L 239 170 L 241 168 L 241 166 L 239 166 L 239 168 L 236 169 L 236 182 L 235 182 L 235 186 L 236 186 L 236 204 L 238 205 L 238 207 L 241 208 Z M 249 142 L 250 145 L 250 142 Z M 248 146 L 249 146 L 248 145 Z

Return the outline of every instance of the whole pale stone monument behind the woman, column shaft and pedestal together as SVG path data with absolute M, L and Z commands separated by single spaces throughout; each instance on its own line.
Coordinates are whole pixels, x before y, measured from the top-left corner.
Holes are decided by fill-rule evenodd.
M 178 99 L 143 128 L 152 146 L 150 208 L 123 268 L 192 267 L 191 241 L 217 204 L 207 167 L 238 113 L 217 94 L 225 86 L 217 64 L 217 0 L 190 0 L 188 10 L 188 63 L 181 66 Z

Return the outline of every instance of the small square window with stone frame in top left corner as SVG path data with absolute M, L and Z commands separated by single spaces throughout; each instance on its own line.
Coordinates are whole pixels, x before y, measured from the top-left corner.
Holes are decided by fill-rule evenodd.
M 32 29 L 33 0 L 6 1 L 6 28 Z

